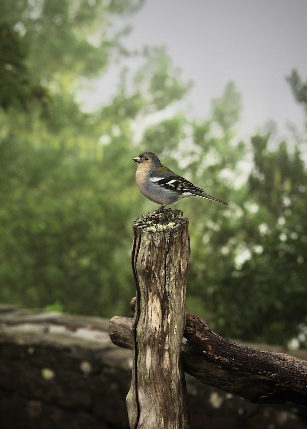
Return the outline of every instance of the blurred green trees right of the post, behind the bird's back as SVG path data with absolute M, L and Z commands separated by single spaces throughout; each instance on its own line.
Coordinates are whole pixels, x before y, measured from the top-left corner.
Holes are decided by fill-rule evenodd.
M 306 322 L 307 171 L 298 148 L 291 154 L 281 142 L 269 151 L 270 136 L 258 135 L 251 140 L 252 172 L 242 184 L 247 149 L 235 138 L 240 109 L 230 82 L 203 124 L 182 116 L 163 120 L 146 130 L 143 145 L 229 202 L 225 208 L 180 201 L 190 221 L 188 311 L 221 335 L 286 345 Z

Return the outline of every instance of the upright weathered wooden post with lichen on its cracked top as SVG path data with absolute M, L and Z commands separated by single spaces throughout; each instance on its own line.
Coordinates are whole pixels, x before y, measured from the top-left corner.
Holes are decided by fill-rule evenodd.
M 190 261 L 188 219 L 164 210 L 134 221 L 137 287 L 133 368 L 127 408 L 131 429 L 188 429 L 180 361 Z

